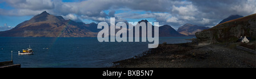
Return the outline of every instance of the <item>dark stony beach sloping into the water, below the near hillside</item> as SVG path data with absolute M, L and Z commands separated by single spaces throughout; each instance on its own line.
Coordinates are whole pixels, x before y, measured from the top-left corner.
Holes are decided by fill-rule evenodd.
M 255 59 L 255 54 L 236 49 L 234 43 L 229 46 L 163 43 L 134 58 L 113 62 L 110 68 L 255 68 Z

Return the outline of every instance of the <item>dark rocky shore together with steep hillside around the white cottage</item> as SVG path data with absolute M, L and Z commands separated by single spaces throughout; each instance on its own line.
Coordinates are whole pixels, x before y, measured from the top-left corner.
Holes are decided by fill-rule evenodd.
M 255 68 L 256 55 L 236 49 L 237 45 L 255 50 L 256 14 L 221 23 L 195 33 L 191 43 L 166 44 L 143 52 L 142 55 L 114 62 L 117 68 Z M 238 39 L 250 37 L 250 44 Z

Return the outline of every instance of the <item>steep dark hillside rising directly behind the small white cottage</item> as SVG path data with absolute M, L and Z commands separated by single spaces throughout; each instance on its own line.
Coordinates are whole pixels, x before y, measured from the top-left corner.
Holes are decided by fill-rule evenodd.
M 240 19 L 226 21 L 213 28 L 197 32 L 196 37 L 199 40 L 199 45 L 236 42 L 241 36 L 250 37 L 252 40 L 255 40 L 255 18 L 256 14 L 253 14 Z

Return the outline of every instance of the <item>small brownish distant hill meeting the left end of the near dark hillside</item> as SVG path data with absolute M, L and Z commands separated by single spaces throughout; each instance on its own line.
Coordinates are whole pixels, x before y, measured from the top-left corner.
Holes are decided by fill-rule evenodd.
M 180 27 L 177 32 L 184 34 L 185 36 L 195 36 L 196 32 L 200 32 L 204 29 L 209 29 L 208 27 L 199 27 L 197 25 L 185 24 Z

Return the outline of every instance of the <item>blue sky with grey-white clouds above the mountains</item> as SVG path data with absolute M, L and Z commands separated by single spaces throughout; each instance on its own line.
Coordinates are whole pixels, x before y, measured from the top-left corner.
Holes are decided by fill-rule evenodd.
M 64 19 L 99 23 L 147 19 L 178 29 L 184 24 L 213 27 L 230 15 L 256 13 L 256 0 L 0 0 L 0 31 L 47 11 Z

